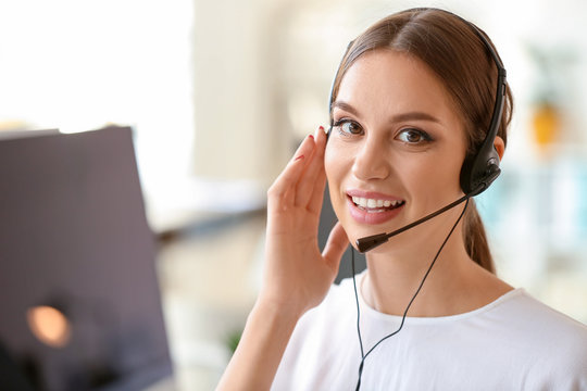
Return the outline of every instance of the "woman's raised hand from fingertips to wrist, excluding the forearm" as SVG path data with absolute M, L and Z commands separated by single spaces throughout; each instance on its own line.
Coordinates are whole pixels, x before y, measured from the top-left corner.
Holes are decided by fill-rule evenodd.
M 321 254 L 317 243 L 320 212 L 326 185 L 321 127 L 308 136 L 267 195 L 267 235 L 264 286 L 260 301 L 303 314 L 320 304 L 333 283 L 348 245 L 337 224 Z

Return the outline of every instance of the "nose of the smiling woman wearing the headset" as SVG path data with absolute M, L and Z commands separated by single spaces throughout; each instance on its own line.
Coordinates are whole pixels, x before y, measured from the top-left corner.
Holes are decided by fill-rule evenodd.
M 385 179 L 389 176 L 390 163 L 386 143 L 375 137 L 366 137 L 354 156 L 352 174 L 361 180 Z

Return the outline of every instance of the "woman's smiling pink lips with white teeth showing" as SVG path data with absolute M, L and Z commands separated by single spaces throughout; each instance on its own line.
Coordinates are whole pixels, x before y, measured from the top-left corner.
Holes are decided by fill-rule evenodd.
M 396 217 L 405 201 L 383 193 L 349 190 L 347 201 L 351 216 L 361 224 L 383 224 Z

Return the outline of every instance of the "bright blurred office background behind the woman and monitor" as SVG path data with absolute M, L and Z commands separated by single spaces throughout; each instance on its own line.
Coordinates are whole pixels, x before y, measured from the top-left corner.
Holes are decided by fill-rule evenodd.
M 226 365 L 259 286 L 266 188 L 327 123 L 348 41 L 420 5 L 478 24 L 508 70 L 503 174 L 478 200 L 499 275 L 586 323 L 584 1 L 0 3 L 0 136 L 134 129 L 177 389 L 212 389 Z

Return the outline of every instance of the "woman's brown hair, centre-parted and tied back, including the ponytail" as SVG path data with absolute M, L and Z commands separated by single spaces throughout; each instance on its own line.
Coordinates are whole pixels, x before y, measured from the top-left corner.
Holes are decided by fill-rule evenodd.
M 483 30 L 479 33 L 491 42 Z M 362 54 L 382 49 L 409 53 L 438 76 L 463 118 L 467 153 L 474 153 L 489 128 L 496 99 L 497 66 L 473 25 L 437 9 L 408 10 L 380 20 L 350 43 L 333 85 L 330 104 L 336 100 L 349 67 Z M 513 99 L 508 87 L 498 129 L 504 143 L 508 142 L 507 128 L 512 110 Z M 495 273 L 485 228 L 473 200 L 464 215 L 463 240 L 469 256 Z

